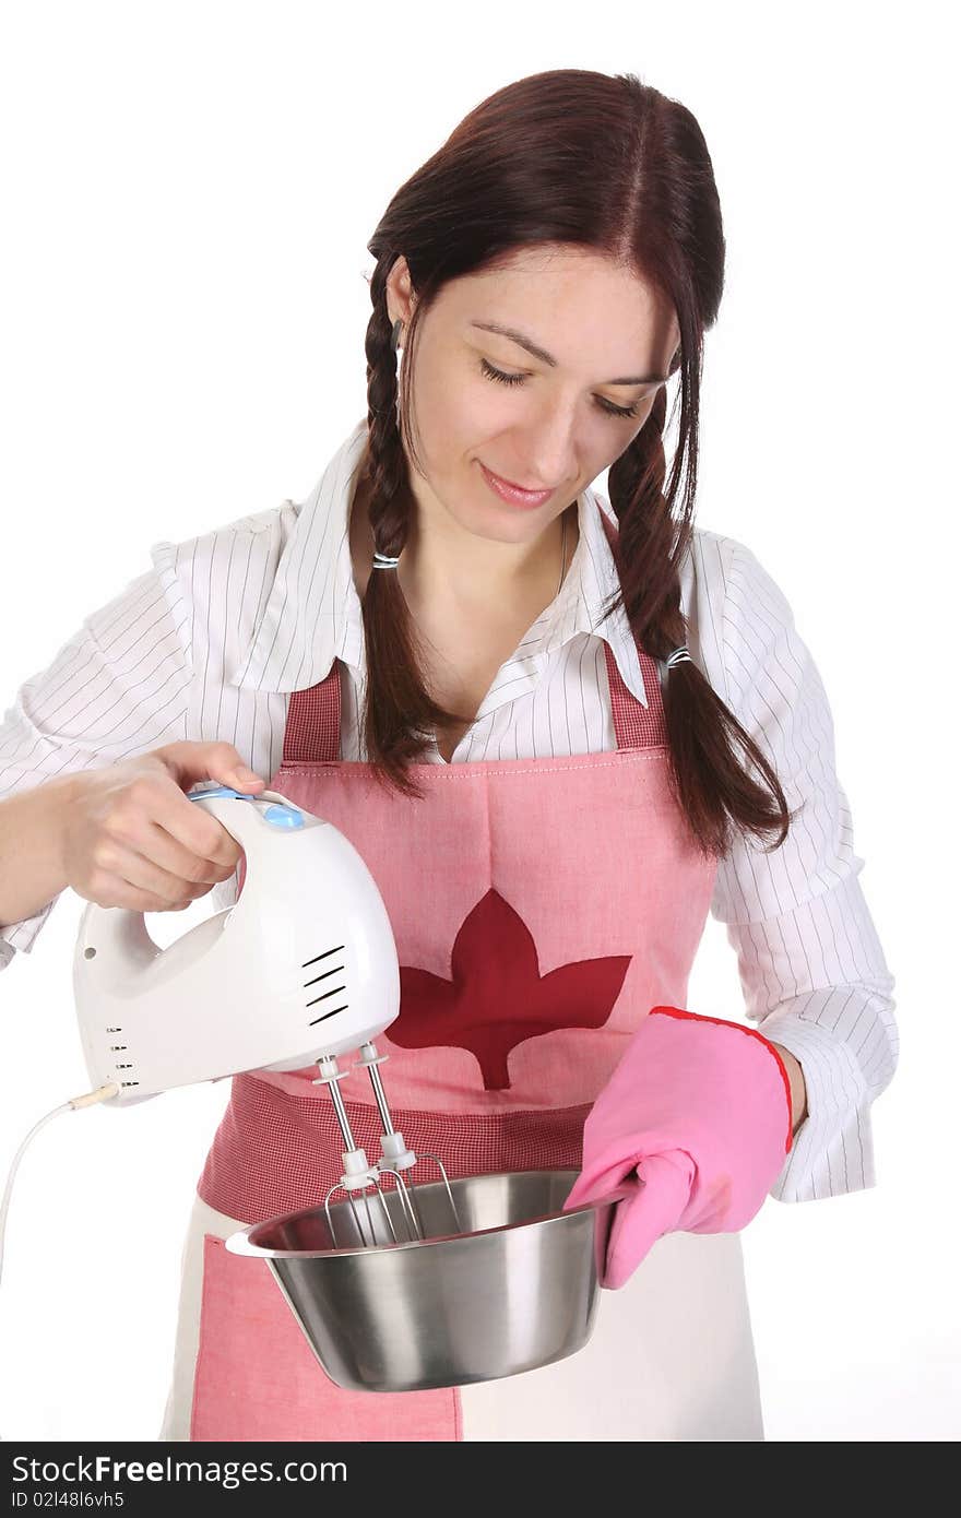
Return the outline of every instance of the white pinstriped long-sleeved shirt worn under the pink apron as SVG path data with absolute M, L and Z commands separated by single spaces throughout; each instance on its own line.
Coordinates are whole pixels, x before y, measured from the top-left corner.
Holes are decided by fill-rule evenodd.
M 361 604 L 348 539 L 357 424 L 305 501 L 284 501 L 179 543 L 83 619 L 27 679 L 0 726 L 0 797 L 175 739 L 232 742 L 266 780 L 282 757 L 290 692 L 340 659 L 342 757 L 364 759 Z M 601 627 L 618 578 L 597 518 L 578 498 L 580 540 L 554 601 L 498 671 L 452 762 L 600 753 L 616 747 L 603 641 L 647 704 L 622 607 Z M 711 912 L 738 955 L 745 1014 L 800 1061 L 808 1117 L 771 1189 L 779 1201 L 874 1186 L 870 1107 L 897 1064 L 888 973 L 858 874 L 847 797 L 833 768 L 830 709 L 791 609 L 753 553 L 695 528 L 682 565 L 688 648 L 803 803 L 785 844 L 735 833 Z M 595 630 L 597 628 L 597 630 Z M 434 748 L 428 761 L 445 764 Z M 237 874 L 213 888 L 220 909 Z M 0 927 L 0 968 L 29 952 L 55 902 Z

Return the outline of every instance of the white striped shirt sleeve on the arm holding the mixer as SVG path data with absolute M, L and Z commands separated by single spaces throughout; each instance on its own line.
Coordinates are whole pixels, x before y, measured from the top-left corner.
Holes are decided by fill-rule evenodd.
M 17 691 L 0 724 L 0 800 L 187 736 L 190 612 L 175 545 L 150 553 L 153 568 L 87 616 Z M 17 950 L 30 953 L 58 899 L 0 927 L 0 970 Z

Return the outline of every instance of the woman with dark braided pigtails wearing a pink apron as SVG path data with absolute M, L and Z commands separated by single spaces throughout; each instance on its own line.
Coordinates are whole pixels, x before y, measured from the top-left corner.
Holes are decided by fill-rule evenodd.
M 712 911 L 758 1025 L 765 1117 L 782 1101 L 789 1119 L 765 1187 L 874 1184 L 893 979 L 830 713 L 774 581 L 692 525 L 724 266 L 695 120 L 630 74 L 522 79 L 401 187 L 369 249 L 366 419 L 307 501 L 155 546 L 80 635 L 105 680 L 96 721 L 80 733 L 62 704 L 88 669 L 68 645 L 3 735 L 14 783 L 36 785 L 44 721 L 59 759 L 39 777 L 91 750 L 229 739 L 260 779 L 211 779 L 267 777 L 340 827 L 398 941 L 392 1111 L 454 1175 L 586 1166 L 584 1123 L 648 1014 L 685 1008 Z M 124 879 L 150 883 L 143 861 Z M 29 947 L 50 905 L 0 944 Z M 733 1044 L 739 1026 L 714 1032 Z M 184 1249 L 162 1439 L 764 1438 L 736 1227 L 700 1231 L 682 1208 L 635 1240 L 560 1365 L 398 1397 L 329 1383 L 269 1272 L 223 1249 L 339 1173 L 314 1075 L 234 1078 Z M 342 1091 L 377 1152 L 363 1072 Z M 679 1099 L 671 1120 L 688 1117 Z

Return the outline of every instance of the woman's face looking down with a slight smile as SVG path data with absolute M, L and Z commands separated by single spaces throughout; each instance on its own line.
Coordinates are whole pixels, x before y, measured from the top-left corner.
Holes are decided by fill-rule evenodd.
M 390 319 L 407 326 L 402 258 L 387 293 Z M 641 431 L 679 345 L 663 298 L 591 250 L 525 249 L 509 269 L 451 281 L 417 332 L 411 402 L 425 478 L 411 484 L 421 510 L 480 537 L 531 542 Z M 551 493 L 533 507 L 504 501 L 481 465 Z

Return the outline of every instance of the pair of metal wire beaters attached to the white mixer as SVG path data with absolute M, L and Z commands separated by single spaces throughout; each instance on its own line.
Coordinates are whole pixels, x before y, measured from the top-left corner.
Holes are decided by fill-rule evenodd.
M 443 1163 L 436 1154 L 414 1154 L 407 1148 L 404 1134 L 393 1126 L 390 1117 L 390 1110 L 387 1107 L 387 1098 L 384 1096 L 384 1082 L 381 1081 L 378 1064 L 383 1064 L 389 1057 L 386 1053 L 378 1053 L 375 1046 L 367 1041 L 360 1046 L 358 1066 L 364 1066 L 367 1075 L 370 1076 L 370 1085 L 373 1087 L 373 1099 L 377 1102 L 377 1110 L 380 1114 L 383 1134 L 381 1134 L 381 1158 L 373 1164 L 367 1160 L 363 1145 L 358 1145 L 354 1138 L 354 1131 L 351 1128 L 351 1119 L 340 1094 L 339 1081 L 348 1075 L 348 1070 L 342 1070 L 337 1064 L 336 1055 L 320 1055 L 317 1060 L 317 1067 L 320 1075 L 311 1082 L 313 1085 L 329 1087 L 331 1101 L 334 1102 L 334 1113 L 337 1116 L 337 1125 L 340 1128 L 345 1151 L 342 1154 L 343 1160 L 343 1175 L 334 1186 L 329 1187 L 323 1199 L 323 1211 L 326 1214 L 326 1225 L 331 1234 L 331 1242 L 336 1249 L 349 1248 L 355 1243 L 364 1248 L 372 1248 L 381 1240 L 377 1236 L 377 1228 L 373 1217 L 370 1214 L 370 1190 L 373 1190 L 377 1201 L 380 1202 L 384 1222 L 387 1225 L 387 1233 L 392 1243 L 413 1243 L 414 1240 L 424 1240 L 427 1237 L 424 1228 L 424 1219 L 416 1202 L 416 1187 L 408 1186 L 404 1179 L 402 1172 L 410 1172 L 421 1160 L 433 1160 L 443 1181 L 443 1187 L 448 1195 L 451 1205 L 452 1230 L 451 1233 L 462 1233 L 460 1219 L 457 1216 L 457 1204 L 454 1201 L 454 1193 L 451 1190 L 451 1183 Z M 381 1178 L 386 1175 L 393 1175 L 396 1184 L 396 1193 L 402 1210 L 402 1222 L 405 1227 L 405 1239 L 398 1237 L 393 1217 L 387 1207 L 384 1192 L 381 1189 Z M 351 1208 L 351 1216 L 354 1227 L 357 1230 L 357 1239 L 349 1242 L 342 1242 L 337 1239 L 337 1230 L 334 1227 L 334 1217 L 331 1214 L 331 1198 L 343 1192 Z M 358 1208 L 358 1201 L 363 1201 L 363 1213 Z

